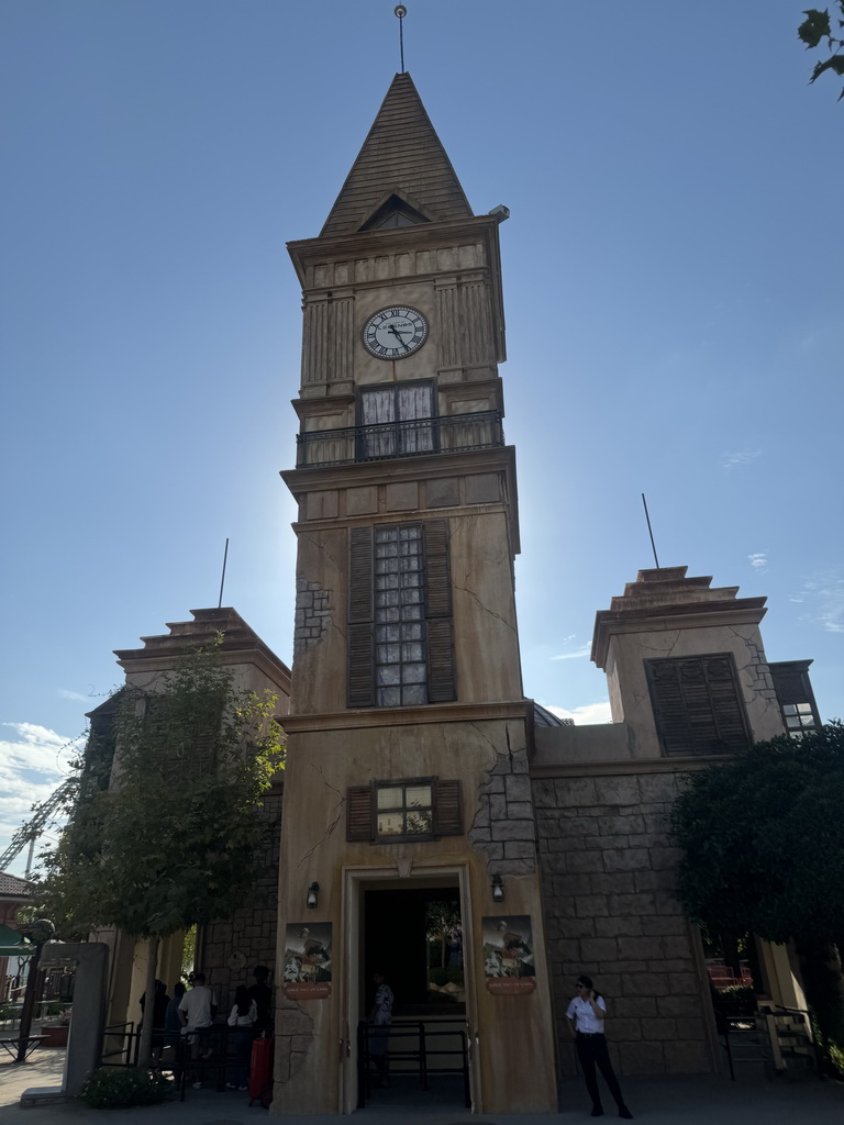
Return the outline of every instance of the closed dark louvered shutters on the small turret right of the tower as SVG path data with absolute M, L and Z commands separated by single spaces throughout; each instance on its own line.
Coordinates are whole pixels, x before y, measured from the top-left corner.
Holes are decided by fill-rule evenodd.
M 646 660 L 645 667 L 664 754 L 734 754 L 749 745 L 729 652 Z

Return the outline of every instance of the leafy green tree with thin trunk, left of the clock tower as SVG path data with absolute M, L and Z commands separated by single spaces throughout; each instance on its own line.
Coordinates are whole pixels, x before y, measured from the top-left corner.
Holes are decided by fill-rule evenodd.
M 114 760 L 74 765 L 71 819 L 43 856 L 39 909 L 62 937 L 117 926 L 159 944 L 249 901 L 264 844 L 261 796 L 282 766 L 276 699 L 234 686 L 216 648 L 186 655 L 152 692 L 122 688 Z M 152 1002 L 140 1059 L 149 1063 Z

